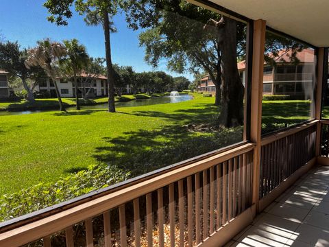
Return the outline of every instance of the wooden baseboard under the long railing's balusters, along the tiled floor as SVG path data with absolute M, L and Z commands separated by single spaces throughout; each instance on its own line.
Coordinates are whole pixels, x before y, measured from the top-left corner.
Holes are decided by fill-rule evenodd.
M 253 215 L 252 215 L 252 207 L 249 207 L 243 213 L 235 217 L 225 226 L 219 228 L 215 233 L 212 233 L 210 237 L 204 239 L 202 244 L 198 246 L 202 247 L 217 247 L 224 246 L 227 242 L 229 242 L 236 234 L 242 231 L 245 227 L 247 227 L 250 223 L 252 223 Z

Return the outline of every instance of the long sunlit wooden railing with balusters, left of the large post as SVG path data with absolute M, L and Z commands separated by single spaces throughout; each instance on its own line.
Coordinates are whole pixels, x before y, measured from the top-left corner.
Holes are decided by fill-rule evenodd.
M 0 246 L 196 246 L 252 204 L 247 143 L 0 234 Z M 40 215 L 39 215 L 40 217 Z

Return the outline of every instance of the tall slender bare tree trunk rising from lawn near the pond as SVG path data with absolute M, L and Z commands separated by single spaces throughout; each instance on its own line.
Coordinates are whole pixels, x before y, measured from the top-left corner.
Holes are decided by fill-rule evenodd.
M 111 43 L 110 43 L 110 20 L 108 19 L 108 12 L 103 16 L 103 29 L 105 36 L 105 51 L 106 51 L 106 69 L 108 72 L 108 111 L 115 113 L 114 105 L 114 78 L 111 60 Z

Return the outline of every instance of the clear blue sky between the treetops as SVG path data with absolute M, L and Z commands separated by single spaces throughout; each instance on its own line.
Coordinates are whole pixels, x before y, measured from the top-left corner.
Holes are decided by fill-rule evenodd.
M 66 27 L 58 27 L 47 21 L 47 9 L 42 6 L 45 0 L 1 0 L 0 34 L 5 40 L 19 41 L 22 47 L 33 47 L 36 40 L 46 37 L 52 40 L 77 38 L 87 47 L 88 54 L 105 57 L 103 30 L 101 26 L 88 27 L 83 17 L 73 14 Z M 118 32 L 111 34 L 112 62 L 134 67 L 135 71 L 151 71 L 154 68 L 144 61 L 144 48 L 139 47 L 138 33 L 127 28 L 123 14 L 114 16 Z M 166 62 L 160 62 L 156 70 L 178 76 L 167 71 Z M 193 75 L 186 73 L 193 80 Z

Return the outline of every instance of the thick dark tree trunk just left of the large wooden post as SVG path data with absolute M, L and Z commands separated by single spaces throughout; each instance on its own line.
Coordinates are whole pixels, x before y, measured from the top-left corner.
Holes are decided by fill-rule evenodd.
M 243 125 L 244 88 L 236 66 L 236 21 L 224 17 L 223 27 L 223 82 L 221 123 L 232 127 Z

